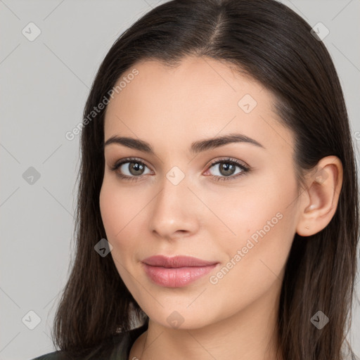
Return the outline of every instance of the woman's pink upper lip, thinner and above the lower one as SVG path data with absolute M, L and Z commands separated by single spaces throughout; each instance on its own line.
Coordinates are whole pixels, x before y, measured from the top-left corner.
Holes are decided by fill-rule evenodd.
M 164 255 L 155 255 L 143 259 L 143 263 L 151 266 L 164 266 L 167 268 L 186 267 L 186 266 L 209 266 L 217 264 L 217 262 L 209 262 L 198 259 L 197 257 L 177 255 L 174 257 L 166 257 Z

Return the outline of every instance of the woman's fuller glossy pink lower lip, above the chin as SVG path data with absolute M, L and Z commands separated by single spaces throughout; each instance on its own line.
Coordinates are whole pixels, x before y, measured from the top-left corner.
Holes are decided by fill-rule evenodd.
M 167 288 L 182 288 L 210 273 L 217 264 L 207 266 L 187 266 L 165 268 L 144 264 L 146 274 L 154 283 Z

